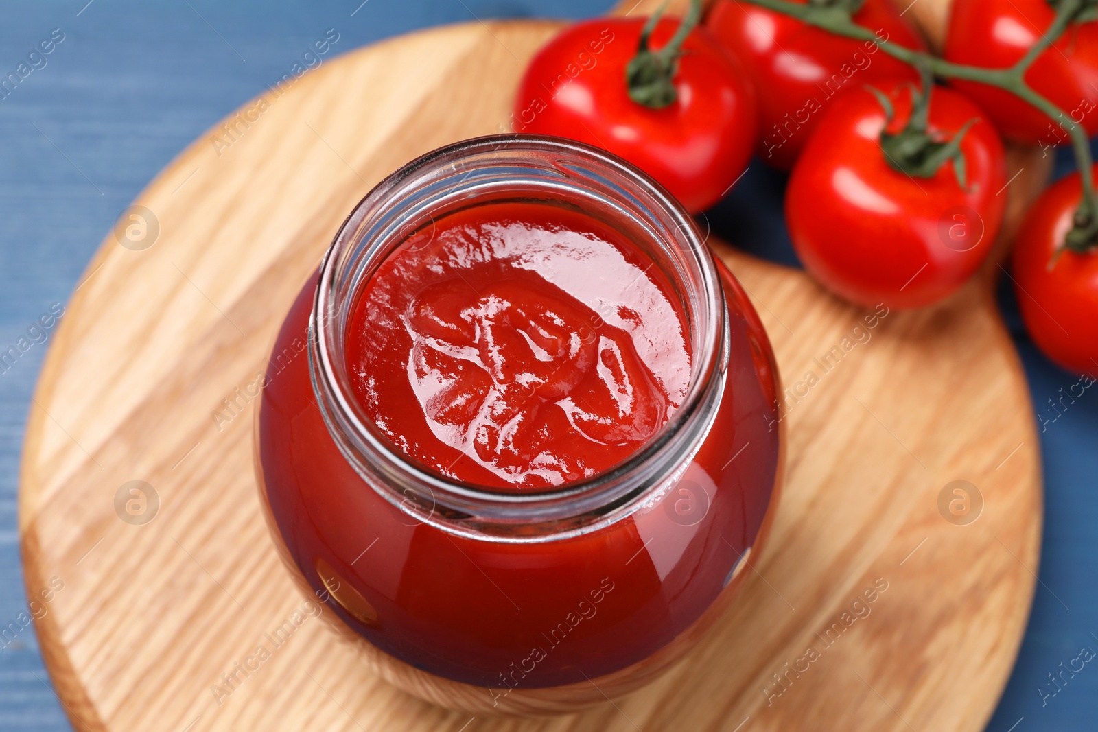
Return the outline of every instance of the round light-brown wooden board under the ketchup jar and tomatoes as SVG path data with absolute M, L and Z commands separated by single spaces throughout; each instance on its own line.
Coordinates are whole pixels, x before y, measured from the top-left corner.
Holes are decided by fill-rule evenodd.
M 983 728 L 1026 623 L 1042 511 L 1026 382 L 988 278 L 858 342 L 862 311 L 719 244 L 789 390 L 787 486 L 742 596 L 685 661 L 584 713 L 470 720 L 372 677 L 309 619 L 228 697 L 212 691 L 302 603 L 260 514 L 254 407 L 222 425 L 214 410 L 253 383 L 359 198 L 421 153 L 495 132 L 557 27 L 451 26 L 325 64 L 153 181 L 136 202 L 159 223 L 152 247 L 104 241 L 42 373 L 20 497 L 29 593 L 63 583 L 36 626 L 77 729 Z M 1012 194 L 1039 184 L 1029 172 Z M 818 383 L 798 387 L 809 372 Z M 145 525 L 115 511 L 133 480 L 159 498 Z M 983 495 L 967 526 L 939 511 L 954 480 Z M 887 589 L 854 605 L 874 585 Z

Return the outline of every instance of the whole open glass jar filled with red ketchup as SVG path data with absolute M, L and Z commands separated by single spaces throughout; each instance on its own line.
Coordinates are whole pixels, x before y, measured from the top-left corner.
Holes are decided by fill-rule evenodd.
M 737 593 L 778 393 L 753 307 L 659 184 L 484 137 L 344 222 L 278 335 L 256 466 L 282 558 L 384 678 L 569 711 L 653 678 Z

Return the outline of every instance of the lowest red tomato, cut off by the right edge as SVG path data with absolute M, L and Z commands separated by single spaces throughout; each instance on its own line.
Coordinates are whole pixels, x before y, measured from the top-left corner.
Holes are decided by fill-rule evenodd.
M 1094 168 L 1098 174 L 1098 166 Z M 1098 379 L 1098 248 L 1054 257 L 1083 198 L 1078 173 L 1041 194 L 1015 239 L 1015 292 L 1033 342 L 1050 359 Z

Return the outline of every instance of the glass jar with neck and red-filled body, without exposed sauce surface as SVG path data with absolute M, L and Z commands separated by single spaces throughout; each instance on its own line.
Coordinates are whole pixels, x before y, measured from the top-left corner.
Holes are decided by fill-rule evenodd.
M 681 299 L 681 407 L 590 478 L 523 492 L 450 480 L 393 444 L 349 385 L 363 283 L 412 233 L 500 201 L 613 225 Z M 776 505 L 778 393 L 758 315 L 662 188 L 578 143 L 484 137 L 410 162 L 344 222 L 278 335 L 256 468 L 283 560 L 384 678 L 472 713 L 570 711 L 653 678 L 737 593 Z

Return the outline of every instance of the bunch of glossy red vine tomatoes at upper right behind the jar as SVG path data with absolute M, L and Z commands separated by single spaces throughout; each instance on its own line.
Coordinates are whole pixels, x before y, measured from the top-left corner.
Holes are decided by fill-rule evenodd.
M 754 151 L 791 171 L 786 223 L 810 274 L 858 305 L 921 307 L 991 251 L 1009 185 L 1002 137 L 1051 148 L 1075 127 L 1098 133 L 1098 11 L 1056 26 L 1060 3 L 1085 1 L 953 3 L 943 57 L 985 69 L 1026 59 L 1019 78 L 1064 111 L 1057 120 L 1005 83 L 943 86 L 886 53 L 926 52 L 890 0 L 792 0 L 785 12 L 716 0 L 701 24 L 695 1 L 681 20 L 570 26 L 527 68 L 512 126 L 615 153 L 692 213 L 720 200 Z M 845 13 L 862 37 L 788 12 L 808 4 Z M 1098 375 L 1098 246 L 1065 247 L 1086 218 L 1080 202 L 1076 173 L 1033 205 L 1013 277 L 1038 345 Z

